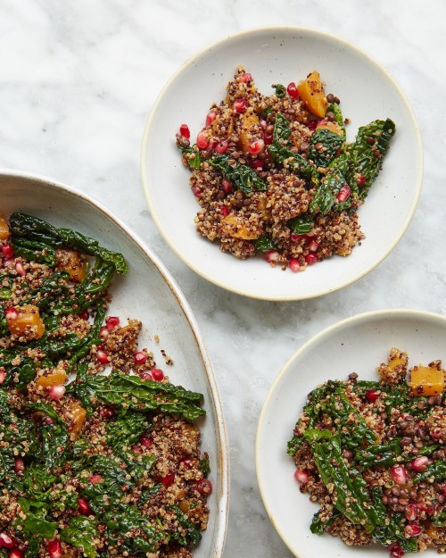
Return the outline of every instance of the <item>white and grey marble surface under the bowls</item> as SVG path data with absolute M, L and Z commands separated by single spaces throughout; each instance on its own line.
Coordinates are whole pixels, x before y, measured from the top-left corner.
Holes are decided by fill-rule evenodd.
M 260 501 L 254 438 L 297 347 L 358 312 L 446 313 L 445 20 L 444 0 L 0 0 L 0 166 L 106 204 L 165 262 L 202 329 L 230 444 L 226 558 L 290 555 Z M 145 121 L 170 74 L 216 38 L 268 24 L 325 29 L 368 51 L 409 97 L 425 146 L 421 200 L 399 246 L 365 279 L 301 303 L 244 299 L 196 276 L 153 225 L 139 179 Z

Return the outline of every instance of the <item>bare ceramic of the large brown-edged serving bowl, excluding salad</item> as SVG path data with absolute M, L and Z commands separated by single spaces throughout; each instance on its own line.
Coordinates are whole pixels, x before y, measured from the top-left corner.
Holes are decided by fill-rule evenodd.
M 176 282 L 153 252 L 101 204 L 76 190 L 16 171 L 0 171 L 0 212 L 36 215 L 56 226 L 78 229 L 103 246 L 125 255 L 128 275 L 116 276 L 111 287 L 111 313 L 144 324 L 141 342 L 164 364 L 161 349 L 174 365 L 170 380 L 204 395 L 206 417 L 201 422 L 202 451 L 211 459 L 214 490 L 208 530 L 203 533 L 196 558 L 220 558 L 223 552 L 228 504 L 228 455 L 219 390 L 194 316 Z M 154 336 L 160 337 L 157 344 Z

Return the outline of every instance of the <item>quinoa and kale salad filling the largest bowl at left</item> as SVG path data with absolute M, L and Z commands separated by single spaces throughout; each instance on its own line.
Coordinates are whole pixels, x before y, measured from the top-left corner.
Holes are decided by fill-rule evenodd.
M 0 558 L 191 558 L 207 527 L 202 395 L 107 316 L 117 271 L 92 238 L 0 216 Z

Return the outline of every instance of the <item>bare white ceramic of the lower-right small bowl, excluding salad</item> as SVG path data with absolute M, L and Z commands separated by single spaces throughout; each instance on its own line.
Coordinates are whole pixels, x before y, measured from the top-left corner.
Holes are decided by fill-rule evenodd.
M 386 558 L 382 546 L 350 547 L 328 534 L 313 535 L 310 522 L 318 505 L 302 495 L 293 478 L 293 458 L 286 443 L 314 387 L 328 379 L 377 379 L 377 366 L 396 346 L 409 354 L 410 365 L 446 362 L 446 318 L 410 310 L 359 314 L 325 329 L 302 346 L 280 372 L 260 414 L 256 468 L 260 493 L 270 520 L 286 546 L 300 558 Z M 425 551 L 424 556 L 434 551 Z

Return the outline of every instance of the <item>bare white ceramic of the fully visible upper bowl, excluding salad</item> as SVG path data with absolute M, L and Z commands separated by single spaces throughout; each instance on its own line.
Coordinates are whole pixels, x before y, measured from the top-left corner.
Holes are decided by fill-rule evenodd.
M 342 100 L 351 119 L 348 138 L 359 126 L 391 117 L 396 136 L 359 221 L 367 238 L 347 257 L 333 257 L 303 273 L 271 269 L 260 257 L 248 261 L 219 251 L 199 236 L 194 216 L 200 206 L 175 145 L 186 122 L 194 141 L 209 107 L 226 95 L 238 64 L 252 73 L 260 91 L 298 81 L 317 69 L 326 92 Z M 145 195 L 158 228 L 187 265 L 220 287 L 266 300 L 300 300 L 325 295 L 363 277 L 396 246 L 417 206 L 423 154 L 417 122 L 390 75 L 372 58 L 339 37 L 315 29 L 252 29 L 227 37 L 185 62 L 169 79 L 153 106 L 142 146 Z

